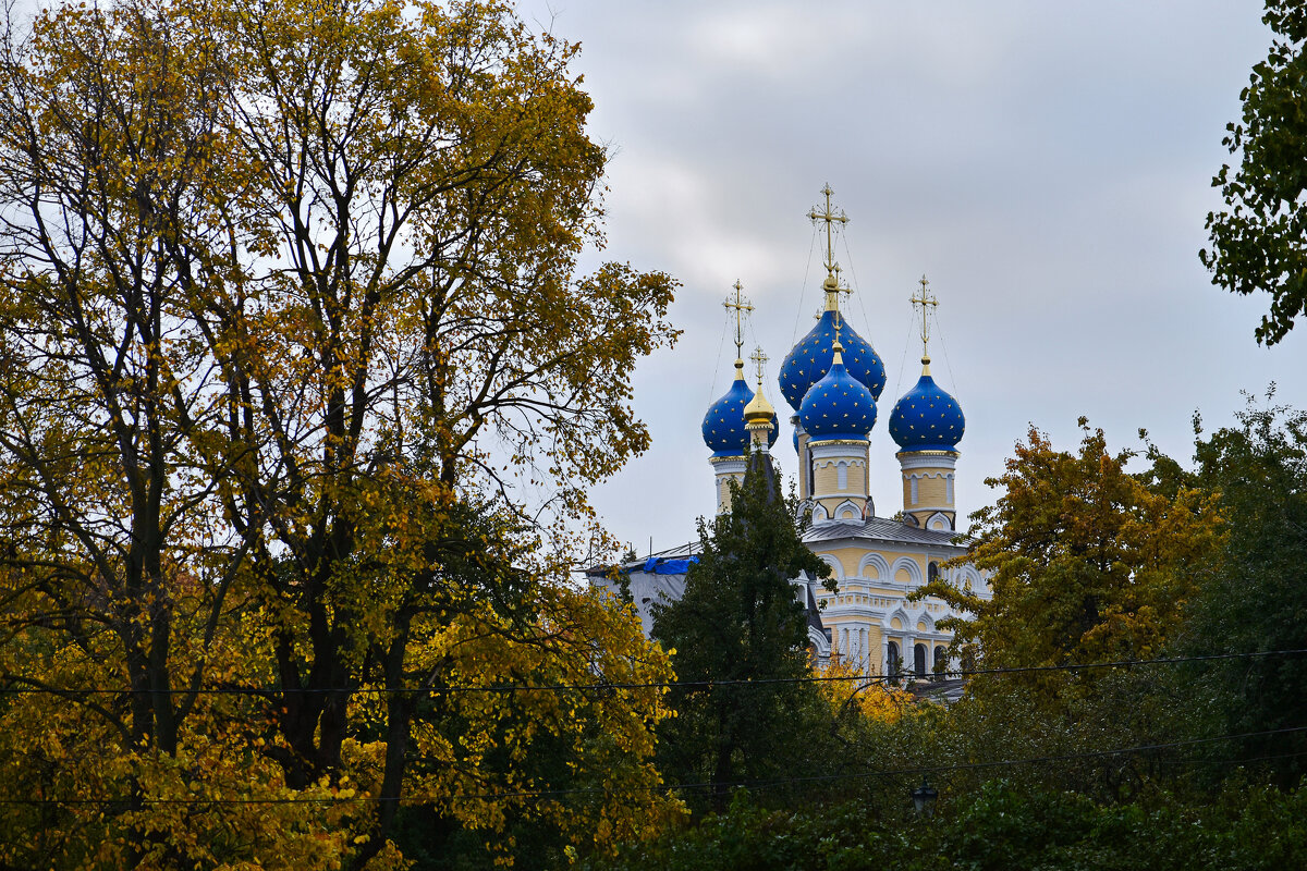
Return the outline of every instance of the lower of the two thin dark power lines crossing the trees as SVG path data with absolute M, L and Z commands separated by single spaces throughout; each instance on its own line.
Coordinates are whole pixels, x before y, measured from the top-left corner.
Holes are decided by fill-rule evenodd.
M 1030 756 L 1025 759 L 999 759 L 983 763 L 957 763 L 951 765 L 914 765 L 908 768 L 872 769 L 863 772 L 843 772 L 838 774 L 810 774 L 806 777 L 783 777 L 761 781 L 732 781 L 732 782 L 698 782 L 698 784 L 660 784 L 657 786 L 637 787 L 631 791 L 657 793 L 657 791 L 693 791 L 702 789 L 774 789 L 793 784 L 827 784 L 835 781 L 868 780 L 872 777 L 906 777 L 916 774 L 946 774 L 950 772 L 979 770 L 988 768 L 1016 768 L 1025 765 L 1043 765 L 1048 763 L 1067 763 L 1081 759 L 1106 759 L 1110 756 L 1125 756 L 1133 753 L 1154 752 L 1161 750 L 1175 750 L 1179 747 L 1196 747 L 1200 744 L 1214 744 L 1225 740 L 1240 740 L 1244 738 L 1264 738 L 1269 735 L 1286 735 L 1307 731 L 1307 726 L 1286 726 L 1282 729 L 1264 729 L 1259 731 L 1236 733 L 1227 735 L 1212 735 L 1208 738 L 1189 738 L 1185 740 L 1172 740 L 1154 744 L 1137 744 L 1134 747 L 1117 747 L 1114 750 L 1078 751 L 1072 753 L 1051 753 L 1046 756 Z M 1304 751 L 1307 752 L 1307 751 Z M 1281 753 L 1266 756 L 1265 759 L 1278 759 L 1280 756 L 1297 756 L 1302 753 Z M 1248 760 L 1233 760 L 1234 763 L 1257 761 L 1263 757 Z M 1212 760 L 1189 759 L 1168 760 L 1171 764 L 1210 764 Z M 597 786 L 576 786 L 553 790 L 516 790 L 499 793 L 461 793 L 457 795 L 323 795 L 323 797 L 269 797 L 269 798 L 4 798 L 0 804 L 332 804 L 332 803 L 384 803 L 406 802 L 412 804 L 468 802 L 468 800 L 502 800 L 510 798 L 555 798 L 562 795 L 612 795 L 613 790 Z

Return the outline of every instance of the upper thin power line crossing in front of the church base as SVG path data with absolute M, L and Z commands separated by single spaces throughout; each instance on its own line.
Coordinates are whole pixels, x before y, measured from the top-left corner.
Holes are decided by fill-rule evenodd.
M 946 669 L 929 674 L 916 675 L 903 673 L 897 675 L 804 675 L 797 678 L 745 678 L 725 680 L 648 680 L 640 683 L 558 683 L 558 684 L 501 684 L 486 687 L 199 687 L 199 688 L 169 688 L 169 689 L 131 689 L 131 688 L 103 688 L 103 687 L 0 687 L 0 695 L 58 695 L 58 696 L 122 696 L 122 695 L 204 695 L 204 696 L 281 696 L 281 695 L 452 695 L 460 692 L 588 692 L 613 689 L 677 689 L 677 688 L 704 688 L 715 689 L 720 687 L 765 687 L 771 684 L 795 683 L 894 683 L 899 680 L 933 682 L 945 678 L 974 678 L 982 675 L 1000 674 L 1030 674 L 1046 671 L 1084 671 L 1090 669 L 1129 669 L 1134 666 L 1183 665 L 1185 662 L 1214 662 L 1222 659 L 1248 659 L 1261 657 L 1287 657 L 1302 656 L 1307 648 L 1294 648 L 1289 650 L 1253 650 L 1248 653 L 1210 653 L 1188 657 L 1161 657 L 1155 659 L 1114 659 L 1110 662 L 1078 662 L 1047 666 L 1013 666 L 1002 669 Z M 13 680 L 13 678 L 10 678 Z

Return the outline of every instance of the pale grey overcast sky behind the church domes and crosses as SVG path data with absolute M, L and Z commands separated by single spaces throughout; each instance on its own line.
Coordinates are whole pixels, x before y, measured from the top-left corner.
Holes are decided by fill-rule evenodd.
M 579 40 L 591 133 L 613 150 L 608 259 L 682 287 L 685 330 L 646 359 L 635 406 L 654 447 L 595 492 L 644 552 L 712 511 L 699 423 L 729 384 L 721 308 L 738 278 L 757 311 L 745 354 L 779 362 L 813 324 L 823 273 L 806 219 L 825 183 L 848 217 L 836 252 L 853 326 L 885 359 L 872 434 L 877 513 L 901 508 L 886 424 L 920 371 L 908 298 L 940 300 L 936 379 L 962 404 L 958 508 L 996 498 L 1034 423 L 1114 447 L 1146 427 L 1192 453 L 1191 417 L 1226 423 L 1240 389 L 1307 406 L 1307 324 L 1274 349 L 1265 298 L 1212 286 L 1197 252 L 1219 204 L 1226 123 L 1265 55 L 1249 0 L 1184 3 L 523 3 Z M 809 260 L 810 257 L 810 260 Z M 786 426 L 776 456 L 796 457 Z

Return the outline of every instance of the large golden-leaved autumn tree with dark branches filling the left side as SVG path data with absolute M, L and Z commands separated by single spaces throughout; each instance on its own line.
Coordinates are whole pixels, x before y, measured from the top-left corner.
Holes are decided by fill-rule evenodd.
M 64 808 L 69 857 L 98 838 L 127 861 L 203 861 L 193 817 L 159 815 L 187 784 L 290 790 L 306 800 L 277 807 L 295 821 L 267 825 L 339 832 L 318 845 L 356 863 L 391 855 L 418 774 L 455 789 L 471 772 L 491 797 L 521 784 L 457 739 L 433 750 L 447 700 L 379 689 L 664 674 L 630 615 L 562 592 L 599 534 L 586 487 L 648 444 L 634 362 L 674 338 L 665 276 L 578 274 L 603 243 L 605 154 L 575 51 L 499 3 L 135 0 L 42 13 L 26 37 L 10 22 L 3 657 L 9 686 L 44 695 L 7 714 L 21 743 L 52 700 L 74 703 L 68 727 L 98 753 L 78 769 L 91 781 L 63 785 L 127 785 L 127 814 Z M 469 649 L 525 659 L 478 670 Z M 656 696 L 587 704 L 646 731 L 660 716 Z M 633 729 L 608 735 L 631 780 L 605 787 L 640 807 L 656 776 Z M 410 772 L 420 751 L 450 770 Z M 199 778 L 227 770 L 203 759 L 250 752 L 233 782 Z M 314 803 L 356 790 L 346 810 Z M 506 812 L 444 808 L 490 831 Z M 229 854 L 276 840 L 242 832 Z

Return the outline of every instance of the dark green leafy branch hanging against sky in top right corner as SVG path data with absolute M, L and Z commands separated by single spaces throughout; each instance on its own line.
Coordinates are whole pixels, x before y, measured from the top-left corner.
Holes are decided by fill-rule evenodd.
M 1270 294 L 1256 337 L 1274 345 L 1307 306 L 1307 8 L 1266 0 L 1263 21 L 1276 35 L 1239 93 L 1242 120 L 1226 125 L 1222 144 L 1239 166 L 1223 165 L 1212 180 L 1226 209 L 1208 213 L 1212 248 L 1200 257 L 1214 285 Z

